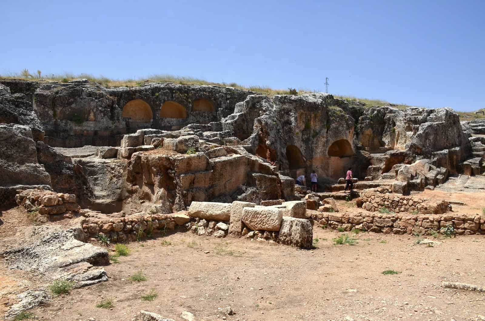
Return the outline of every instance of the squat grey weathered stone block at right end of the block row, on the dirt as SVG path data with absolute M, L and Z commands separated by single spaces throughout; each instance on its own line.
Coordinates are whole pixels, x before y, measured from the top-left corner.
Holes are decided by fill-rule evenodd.
M 313 245 L 313 229 L 310 221 L 306 219 L 284 216 L 278 241 L 302 248 L 311 248 Z

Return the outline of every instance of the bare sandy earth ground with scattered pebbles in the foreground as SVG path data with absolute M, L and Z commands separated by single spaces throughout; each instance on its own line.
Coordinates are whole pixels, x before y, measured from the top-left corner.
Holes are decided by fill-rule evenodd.
M 485 293 L 444 289 L 442 281 L 485 286 L 485 239 L 359 233 L 356 245 L 333 245 L 340 233 L 315 227 L 314 250 L 246 239 L 177 233 L 131 243 L 131 254 L 106 267 L 110 281 L 54 299 L 41 320 L 139 320 L 140 310 L 183 320 L 482 320 Z M 354 233 L 349 233 L 354 235 Z M 162 243 L 163 242 L 163 243 Z M 166 245 L 170 243 L 169 245 Z M 164 245 L 165 244 L 165 245 Z M 194 246 L 194 247 L 192 247 Z M 206 254 L 205 252 L 210 251 Z M 384 270 L 401 272 L 383 275 Z M 129 276 L 141 270 L 146 282 Z M 140 296 L 154 289 L 154 301 Z M 113 299 L 112 310 L 95 305 Z

